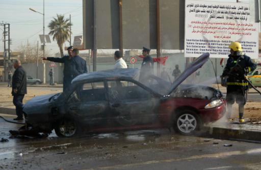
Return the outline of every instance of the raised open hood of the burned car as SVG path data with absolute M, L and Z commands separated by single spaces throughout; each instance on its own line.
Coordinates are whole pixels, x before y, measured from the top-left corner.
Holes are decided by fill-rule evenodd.
M 204 53 L 199 56 L 193 63 L 191 63 L 187 69 L 185 69 L 180 76 L 172 83 L 167 95 L 170 95 L 173 90 L 177 88 L 184 80 L 186 80 L 193 72 L 202 67 L 204 63 L 210 58 L 210 53 Z

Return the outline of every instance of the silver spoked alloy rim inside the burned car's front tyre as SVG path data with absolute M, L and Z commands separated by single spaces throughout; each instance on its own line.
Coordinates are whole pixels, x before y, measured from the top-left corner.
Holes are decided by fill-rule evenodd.
M 177 119 L 177 127 L 183 133 L 190 133 L 197 127 L 197 120 L 192 114 L 182 114 Z

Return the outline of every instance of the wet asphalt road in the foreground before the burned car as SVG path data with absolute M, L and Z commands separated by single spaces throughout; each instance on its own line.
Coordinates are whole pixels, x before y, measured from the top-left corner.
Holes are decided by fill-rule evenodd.
M 19 127 L 2 119 L 0 125 L 1 138 Z M 0 169 L 260 169 L 260 160 L 258 143 L 180 136 L 168 130 L 69 139 L 51 134 L 0 142 Z

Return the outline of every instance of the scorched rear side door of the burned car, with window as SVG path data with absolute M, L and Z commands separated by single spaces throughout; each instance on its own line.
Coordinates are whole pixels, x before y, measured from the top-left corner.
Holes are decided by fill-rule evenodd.
M 104 82 L 84 83 L 71 93 L 67 101 L 68 113 L 89 127 L 103 126 L 109 110 Z

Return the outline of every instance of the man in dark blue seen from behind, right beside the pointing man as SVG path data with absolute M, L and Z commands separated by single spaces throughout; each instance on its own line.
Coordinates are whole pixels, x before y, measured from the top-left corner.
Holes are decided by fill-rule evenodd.
M 79 50 L 74 48 L 72 50 L 72 64 L 71 64 L 71 74 L 72 79 L 81 74 L 87 73 L 86 61 L 79 56 Z

